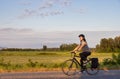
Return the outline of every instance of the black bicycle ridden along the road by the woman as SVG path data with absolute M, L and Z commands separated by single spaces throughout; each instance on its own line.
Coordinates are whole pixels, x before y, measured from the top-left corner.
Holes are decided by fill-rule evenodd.
M 80 58 L 80 56 L 77 56 L 75 53 L 71 53 L 71 56 L 73 57 L 69 60 L 64 61 L 62 64 L 62 71 L 65 75 L 71 76 L 75 75 L 81 70 L 86 71 L 89 75 L 95 75 L 99 72 L 99 66 L 97 68 L 92 68 L 92 62 L 91 59 L 89 58 L 85 61 L 83 61 L 83 68 L 81 67 L 81 63 L 77 60 L 77 58 Z

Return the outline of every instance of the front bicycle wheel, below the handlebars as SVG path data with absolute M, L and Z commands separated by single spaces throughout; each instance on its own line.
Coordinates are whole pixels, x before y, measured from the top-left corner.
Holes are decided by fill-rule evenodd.
M 78 70 L 78 64 L 73 59 L 66 60 L 62 64 L 62 71 L 65 75 L 68 76 L 75 75 L 77 70 Z

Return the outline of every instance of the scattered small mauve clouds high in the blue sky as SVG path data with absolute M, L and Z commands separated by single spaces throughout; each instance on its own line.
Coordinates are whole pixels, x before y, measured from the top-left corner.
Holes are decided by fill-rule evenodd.
M 67 6 L 70 6 L 71 4 L 72 4 L 72 0 L 43 0 L 41 4 L 38 5 L 39 6 L 38 8 L 36 9 L 25 8 L 23 10 L 23 13 L 19 15 L 17 18 L 24 19 L 32 16 L 47 17 L 47 16 L 61 15 L 64 14 L 62 10 L 63 6 L 67 8 Z M 56 9 L 55 7 L 59 7 L 59 8 Z

